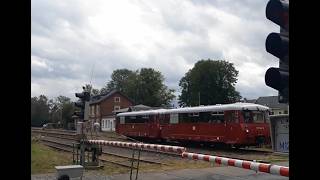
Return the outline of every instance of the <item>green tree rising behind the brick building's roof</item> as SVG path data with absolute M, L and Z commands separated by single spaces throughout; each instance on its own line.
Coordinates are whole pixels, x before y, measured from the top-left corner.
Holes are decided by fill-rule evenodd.
M 164 84 L 161 72 L 152 68 L 137 71 L 118 69 L 113 71 L 111 81 L 101 91 L 117 89 L 133 99 L 136 104 L 166 106 L 175 97 L 174 90 Z

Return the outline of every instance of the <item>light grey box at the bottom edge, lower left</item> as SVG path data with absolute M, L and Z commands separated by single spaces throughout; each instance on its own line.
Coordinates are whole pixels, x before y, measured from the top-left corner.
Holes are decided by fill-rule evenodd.
M 84 168 L 81 165 L 55 166 L 57 170 L 57 179 L 61 176 L 69 176 L 69 178 L 79 178 L 82 180 Z

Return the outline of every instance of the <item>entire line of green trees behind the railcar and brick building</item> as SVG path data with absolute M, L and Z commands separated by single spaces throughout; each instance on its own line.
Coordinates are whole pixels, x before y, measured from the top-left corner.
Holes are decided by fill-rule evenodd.
M 200 60 L 180 79 L 181 94 L 179 105 L 198 106 L 238 102 L 240 93 L 235 90 L 238 71 L 225 60 Z M 86 84 L 85 89 L 91 96 L 105 94 L 117 89 L 135 104 L 152 107 L 169 107 L 175 98 L 174 90 L 164 83 L 164 76 L 153 68 L 138 70 L 117 69 L 111 74 L 111 80 L 100 90 Z M 67 127 L 72 122 L 74 111 L 70 98 L 59 96 L 50 99 L 44 95 L 31 97 L 31 125 L 41 126 L 46 122 L 58 123 Z

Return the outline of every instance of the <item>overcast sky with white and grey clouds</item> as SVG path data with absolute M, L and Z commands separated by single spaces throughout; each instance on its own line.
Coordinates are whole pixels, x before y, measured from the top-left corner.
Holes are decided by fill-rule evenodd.
M 179 95 L 179 80 L 200 59 L 227 60 L 236 90 L 249 99 L 277 95 L 264 75 L 279 61 L 265 39 L 268 0 L 32 0 L 31 96 L 75 99 L 100 89 L 113 70 L 150 67 Z

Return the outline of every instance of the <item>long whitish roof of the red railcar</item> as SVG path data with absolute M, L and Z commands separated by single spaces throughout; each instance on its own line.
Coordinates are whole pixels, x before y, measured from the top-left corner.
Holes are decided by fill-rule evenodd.
M 228 111 L 228 110 L 260 110 L 267 111 L 267 106 L 262 106 L 253 103 L 233 103 L 233 104 L 221 104 L 210 106 L 197 106 L 197 107 L 184 107 L 177 109 L 157 109 L 147 111 L 135 111 L 119 113 L 117 116 L 136 116 L 136 115 L 154 115 L 154 114 L 170 114 L 170 113 L 193 113 L 193 112 L 215 112 L 215 111 Z

